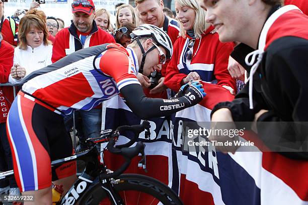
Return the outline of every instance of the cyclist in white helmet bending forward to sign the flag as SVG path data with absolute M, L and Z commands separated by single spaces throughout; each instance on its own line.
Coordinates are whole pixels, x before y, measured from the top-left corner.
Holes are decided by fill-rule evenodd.
M 24 194 L 35 194 L 36 203 L 50 203 L 51 181 L 65 191 L 75 179 L 75 163 L 50 168 L 50 160 L 72 152 L 62 116 L 90 110 L 119 93 L 141 119 L 170 115 L 205 96 L 194 82 L 173 99 L 145 97 L 136 75 L 160 70 L 172 56 L 172 43 L 163 30 L 147 24 L 131 36 L 126 49 L 115 43 L 82 49 L 24 78 L 7 129 L 17 183 Z

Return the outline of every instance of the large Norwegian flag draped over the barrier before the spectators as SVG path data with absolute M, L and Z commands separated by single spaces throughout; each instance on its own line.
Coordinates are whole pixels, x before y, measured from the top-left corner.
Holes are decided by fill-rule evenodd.
M 221 86 L 202 84 L 207 95 L 200 104 L 171 117 L 151 119 L 151 139 L 140 134 L 146 142 L 146 175 L 168 184 L 184 204 L 308 204 L 308 162 L 261 152 L 263 145 L 256 135 L 244 136 L 255 142 L 256 152 L 243 152 L 240 147 L 235 154 L 223 154 L 213 146 L 203 152 L 182 150 L 182 122 L 209 120 L 214 105 L 234 98 Z M 104 102 L 103 116 L 103 129 L 142 122 L 118 96 Z M 110 154 L 105 154 L 105 160 L 114 169 L 122 162 Z M 137 168 L 139 160 L 136 157 L 126 173 L 145 174 Z

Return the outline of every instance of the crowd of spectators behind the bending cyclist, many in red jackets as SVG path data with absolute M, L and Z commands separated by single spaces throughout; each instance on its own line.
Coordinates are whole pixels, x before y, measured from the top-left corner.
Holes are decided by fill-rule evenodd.
M 131 43 L 131 31 L 144 23 L 166 31 L 174 46 L 172 59 L 162 66 L 155 87 L 150 87 L 149 76 L 138 74 L 146 96 L 169 98 L 190 80 L 216 84 L 232 95 L 236 95 L 245 84 L 247 74 L 244 67 L 230 57 L 239 42 L 220 42 L 217 29 L 206 21 L 206 11 L 197 0 L 176 0 L 176 17 L 170 9 L 164 8 L 162 0 L 135 0 L 135 8 L 127 4 L 117 5 L 115 25 L 106 9 L 96 8 L 92 0 L 83 2 L 88 5 L 73 2 L 72 23 L 65 27 L 59 18 L 46 18 L 44 12 L 38 10 L 37 2 L 31 3 L 29 11 L 20 20 L 17 17 L 19 11 L 12 17 L 5 17 L 5 3 L 0 0 L 0 83 L 18 84 L 29 73 L 83 48 L 105 43 L 127 47 Z M 296 5 L 296 1 L 285 2 Z M 12 101 L 13 88 L 0 86 L 0 171 L 13 168 L 5 127 Z M 190 109 L 190 112 L 200 112 L 198 107 Z M 78 127 L 79 149 L 82 149 L 82 139 L 99 136 L 93 131 L 101 129 L 102 107 L 78 111 L 75 115 L 82 125 Z M 200 121 L 210 121 L 210 115 L 203 116 Z M 66 116 L 64 122 L 69 131 L 72 115 Z M 8 187 L 11 193 L 16 191 L 14 179 L 0 182 L 0 190 L 9 190 Z

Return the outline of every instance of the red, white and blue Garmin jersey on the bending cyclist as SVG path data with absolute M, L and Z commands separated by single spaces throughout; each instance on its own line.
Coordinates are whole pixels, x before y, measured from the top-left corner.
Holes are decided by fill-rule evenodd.
M 38 104 L 58 113 L 91 110 L 117 94 L 136 78 L 133 50 L 104 44 L 77 51 L 27 76 L 23 92 Z M 47 75 L 48 73 L 48 75 Z

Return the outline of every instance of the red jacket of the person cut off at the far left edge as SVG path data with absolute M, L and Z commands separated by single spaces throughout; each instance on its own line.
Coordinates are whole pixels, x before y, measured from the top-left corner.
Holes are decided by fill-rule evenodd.
M 13 57 L 14 48 L 6 41 L 2 41 L 0 47 L 0 83 L 8 82 L 13 66 Z M 13 100 L 13 87 L 0 86 L 0 123 L 7 121 Z

